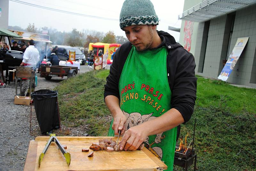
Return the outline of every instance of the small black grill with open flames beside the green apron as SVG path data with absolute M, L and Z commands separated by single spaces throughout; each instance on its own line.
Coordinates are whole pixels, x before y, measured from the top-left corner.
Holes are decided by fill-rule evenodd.
M 175 153 L 174 153 L 174 165 L 180 166 L 185 168 L 185 171 L 188 170 L 188 168 L 193 164 L 194 162 L 194 171 L 196 171 L 196 153 L 194 149 L 194 139 L 195 139 L 195 127 L 196 127 L 196 120 L 194 125 L 194 135 L 193 135 L 193 143 L 192 148 L 188 146 L 187 149 L 182 147 L 180 151 L 176 151 L 180 148 L 179 145 L 176 145 L 175 147 Z M 194 161 L 195 159 L 195 161 Z

